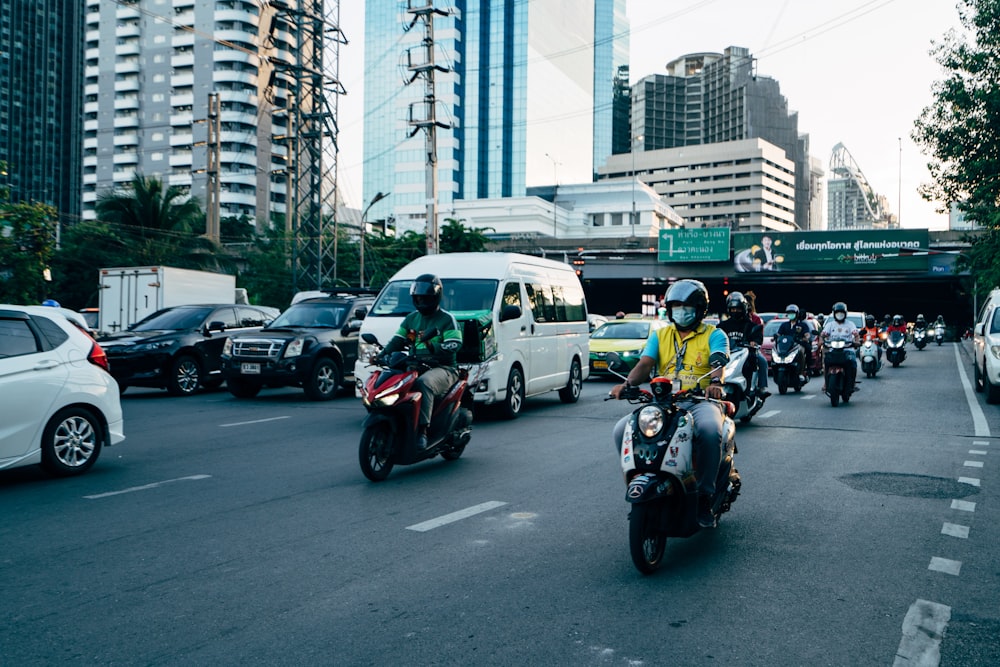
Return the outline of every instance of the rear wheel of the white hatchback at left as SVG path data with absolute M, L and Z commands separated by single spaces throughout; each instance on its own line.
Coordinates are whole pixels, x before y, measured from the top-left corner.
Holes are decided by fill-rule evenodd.
M 103 442 L 101 422 L 89 410 L 60 410 L 42 432 L 42 468 L 59 477 L 85 473 L 100 456 Z

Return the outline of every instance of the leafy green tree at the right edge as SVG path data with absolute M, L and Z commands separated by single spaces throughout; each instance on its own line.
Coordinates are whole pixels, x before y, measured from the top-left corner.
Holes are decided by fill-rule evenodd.
M 1000 2 L 959 0 L 958 14 L 965 32 L 935 43 L 946 76 L 912 136 L 930 158 L 923 197 L 954 203 L 986 228 L 961 258 L 986 291 L 1000 285 Z

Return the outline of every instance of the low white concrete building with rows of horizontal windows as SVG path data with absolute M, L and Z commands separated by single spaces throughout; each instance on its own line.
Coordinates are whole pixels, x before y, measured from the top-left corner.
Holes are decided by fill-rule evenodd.
M 763 139 L 614 155 L 602 180 L 638 178 L 685 227 L 795 231 L 795 163 Z

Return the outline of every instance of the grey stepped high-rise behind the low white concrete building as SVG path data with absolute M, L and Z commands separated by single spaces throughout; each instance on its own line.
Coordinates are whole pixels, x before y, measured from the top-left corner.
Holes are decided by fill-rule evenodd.
M 798 131 L 778 82 L 759 76 L 748 49 L 693 53 L 667 64 L 666 74 L 632 87 L 634 146 L 643 151 L 764 139 L 795 164 L 795 224 L 819 226 L 811 203 L 818 193 L 809 160 L 809 135 Z

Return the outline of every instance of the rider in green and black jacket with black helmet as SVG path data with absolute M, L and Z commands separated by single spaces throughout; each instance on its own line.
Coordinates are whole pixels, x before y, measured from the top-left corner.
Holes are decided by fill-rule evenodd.
M 399 329 L 379 355 L 384 361 L 392 352 L 412 345 L 414 359 L 433 366 L 417 378 L 416 387 L 420 391 L 420 419 L 417 424 L 417 447 L 427 449 L 427 427 L 431 423 L 434 401 L 444 396 L 458 381 L 457 356 L 462 347 L 462 330 L 455 317 L 441 308 L 444 286 L 437 276 L 425 273 L 417 276 L 410 285 L 410 298 L 415 311 L 403 318 Z M 427 341 L 425 332 L 436 329 L 437 333 Z

